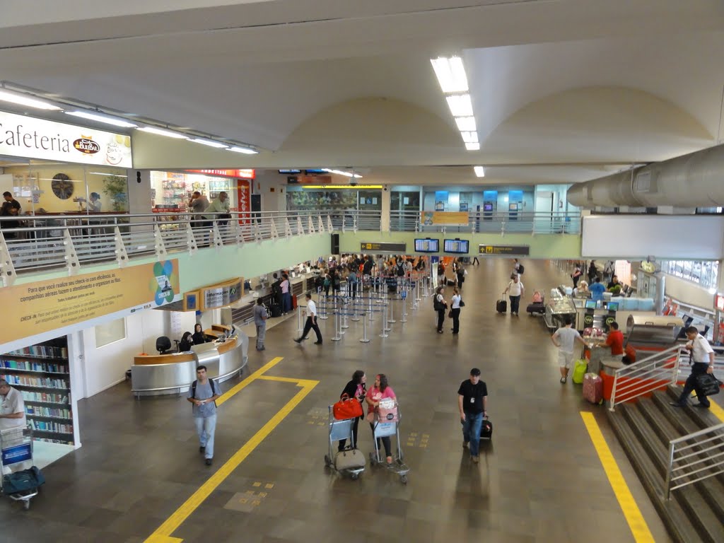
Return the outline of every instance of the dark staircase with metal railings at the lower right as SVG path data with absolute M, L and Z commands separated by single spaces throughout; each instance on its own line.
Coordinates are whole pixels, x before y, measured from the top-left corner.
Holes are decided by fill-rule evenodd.
M 724 473 L 675 489 L 670 492 L 670 499 L 666 498 L 670 440 L 721 424 L 706 409 L 669 405 L 680 393 L 681 387 L 669 386 L 666 390 L 653 392 L 651 397 L 639 397 L 634 402 L 616 405 L 616 411 L 608 411 L 609 420 L 672 539 L 681 543 L 722 543 Z M 699 454 L 704 448 L 710 450 Z M 724 435 L 704 445 L 696 445 L 689 452 L 689 463 L 700 460 L 696 468 L 706 471 L 707 467 L 721 462 Z M 714 455 L 719 456 L 712 459 Z

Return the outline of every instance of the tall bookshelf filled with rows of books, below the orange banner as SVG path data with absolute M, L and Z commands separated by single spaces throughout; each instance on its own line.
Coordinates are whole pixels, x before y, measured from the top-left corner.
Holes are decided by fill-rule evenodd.
M 0 374 L 22 393 L 35 439 L 74 445 L 66 337 L 0 355 Z

